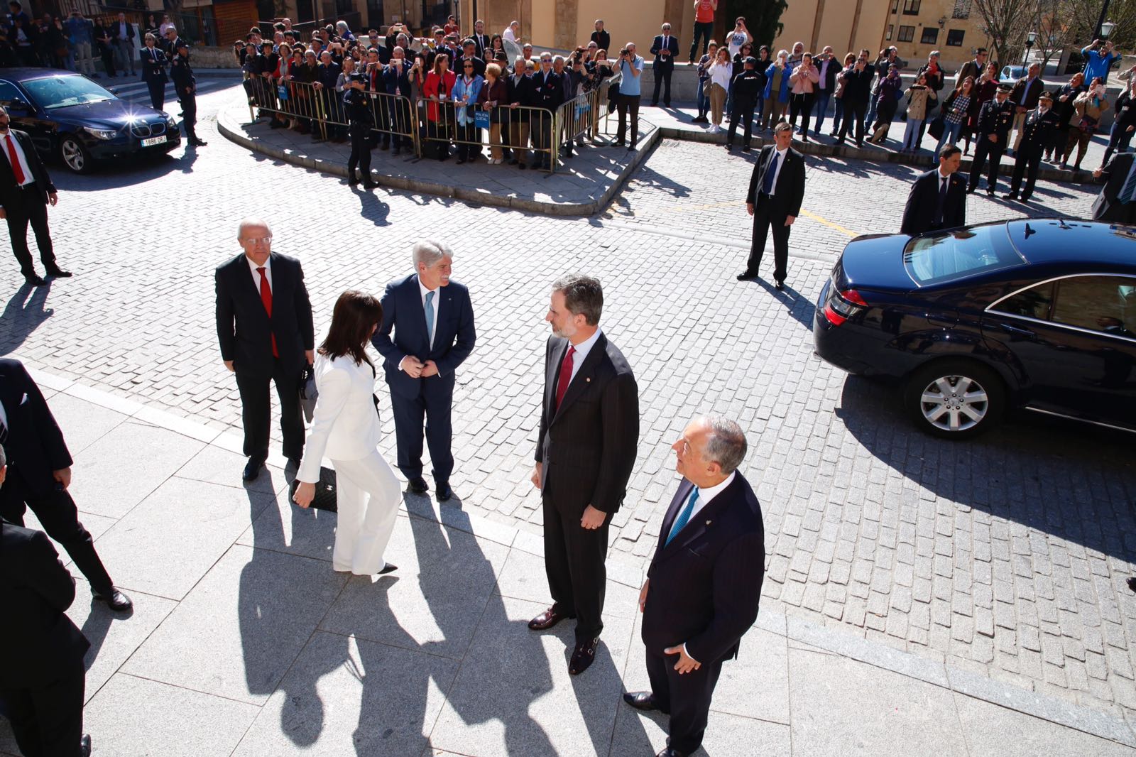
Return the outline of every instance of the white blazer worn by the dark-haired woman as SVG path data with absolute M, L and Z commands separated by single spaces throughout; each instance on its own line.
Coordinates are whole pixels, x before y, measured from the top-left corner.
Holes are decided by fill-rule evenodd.
M 319 481 L 319 463 L 358 460 L 378 447 L 382 426 L 375 411 L 375 374 L 370 365 L 356 365 L 345 355 L 337 358 L 316 356 L 316 411 L 312 414 L 308 443 L 295 477 L 304 483 Z

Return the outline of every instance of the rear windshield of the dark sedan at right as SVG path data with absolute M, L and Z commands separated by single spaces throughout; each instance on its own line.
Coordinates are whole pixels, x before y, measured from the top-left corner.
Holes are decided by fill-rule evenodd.
M 903 267 L 920 286 L 964 278 L 1026 263 L 1006 234 L 1004 224 L 957 228 L 908 242 Z

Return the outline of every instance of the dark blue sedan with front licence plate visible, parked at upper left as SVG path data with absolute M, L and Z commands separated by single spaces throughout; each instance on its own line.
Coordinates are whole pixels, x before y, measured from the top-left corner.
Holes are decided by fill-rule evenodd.
M 78 174 L 99 160 L 169 152 L 182 142 L 169 115 L 122 100 L 69 70 L 0 69 L 0 103 L 41 156 Z

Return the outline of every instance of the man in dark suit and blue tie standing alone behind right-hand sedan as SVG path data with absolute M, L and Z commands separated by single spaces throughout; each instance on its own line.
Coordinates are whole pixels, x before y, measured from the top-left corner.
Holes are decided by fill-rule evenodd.
M 774 283 L 785 285 L 788 273 L 788 233 L 804 200 L 804 156 L 790 147 L 793 127 L 784 120 L 774 127 L 774 144 L 761 148 L 750 176 L 745 209 L 753 216 L 753 242 L 738 281 L 755 278 L 766 250 L 766 235 L 774 232 Z

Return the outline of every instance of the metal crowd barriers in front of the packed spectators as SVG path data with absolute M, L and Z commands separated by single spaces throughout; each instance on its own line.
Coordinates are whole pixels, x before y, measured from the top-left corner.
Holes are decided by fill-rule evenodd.
M 395 141 L 404 140 L 418 157 L 436 157 L 441 150 L 449 153 L 451 144 L 468 144 L 488 147 L 491 151 L 510 150 L 516 159 L 526 164 L 540 157 L 549 166 L 545 170 L 556 172 L 566 140 L 587 136 L 594 141 L 601 132 L 611 133 L 608 119 L 615 102 L 609 95 L 619 77 L 617 72 L 594 90 L 562 103 L 554 111 L 529 106 L 498 106 L 488 111 L 488 128 L 471 122 L 458 123 L 457 108 L 468 107 L 473 119 L 474 114 L 482 110 L 476 105 L 460 106 L 437 98 L 411 99 L 367 91 L 373 109 L 371 131 L 387 134 Z M 348 118 L 342 92 L 315 82 L 290 80 L 281 83 L 264 76 L 247 76 L 244 88 L 252 117 L 259 111 L 259 115 L 296 119 L 309 128 L 318 128 L 324 139 L 329 134 L 345 135 Z M 495 124 L 492 123 L 494 111 L 498 115 Z

